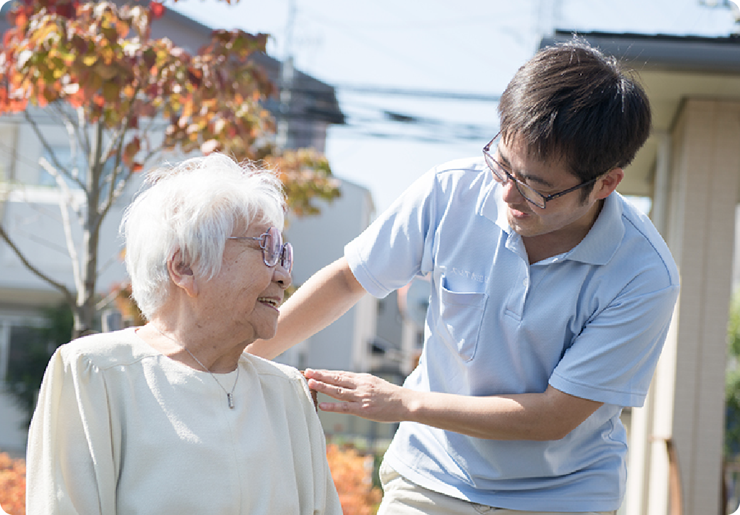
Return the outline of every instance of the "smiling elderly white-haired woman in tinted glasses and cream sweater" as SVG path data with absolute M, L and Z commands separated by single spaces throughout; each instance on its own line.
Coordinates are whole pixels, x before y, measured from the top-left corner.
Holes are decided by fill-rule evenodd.
M 300 372 L 243 352 L 291 284 L 284 199 L 223 155 L 155 171 L 121 224 L 143 327 L 50 361 L 29 514 L 340 514 Z

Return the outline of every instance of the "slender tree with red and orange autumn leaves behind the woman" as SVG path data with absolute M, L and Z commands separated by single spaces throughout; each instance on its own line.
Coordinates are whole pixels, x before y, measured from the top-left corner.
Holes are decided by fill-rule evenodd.
M 163 152 L 265 160 L 280 170 L 298 214 L 314 213 L 314 199 L 338 194 L 323 156 L 273 144 L 275 123 L 264 103 L 275 87 L 252 58 L 265 52 L 268 36 L 214 30 L 210 43 L 190 55 L 167 38 L 151 37 L 152 20 L 163 12 L 155 1 L 23 0 L 8 15 L 0 116 L 21 116 L 44 148 L 39 164 L 60 192 L 74 288 L 34 265 L 3 225 L 0 238 L 64 296 L 74 314 L 73 336 L 93 327 L 101 222 L 132 177 Z M 55 155 L 41 116 L 64 126 L 70 154 L 81 157 L 83 169 Z M 70 201 L 78 191 L 81 204 Z M 73 237 L 75 224 L 81 239 Z

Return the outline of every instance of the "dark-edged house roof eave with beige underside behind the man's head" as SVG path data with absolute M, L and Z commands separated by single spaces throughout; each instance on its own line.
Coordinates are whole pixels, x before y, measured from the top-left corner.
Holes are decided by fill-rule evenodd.
M 574 31 L 557 30 L 539 47 L 565 42 Z M 653 109 L 653 134 L 625 170 L 623 194 L 650 196 L 659 134 L 670 132 L 683 100 L 740 100 L 740 36 L 578 33 L 593 47 L 629 64 L 639 75 Z

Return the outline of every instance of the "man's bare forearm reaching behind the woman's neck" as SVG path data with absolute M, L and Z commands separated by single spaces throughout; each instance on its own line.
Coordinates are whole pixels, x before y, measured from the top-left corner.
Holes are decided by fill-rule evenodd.
M 365 294 L 347 260 L 337 259 L 315 273 L 280 307 L 275 337 L 253 342 L 247 351 L 273 359 L 337 320 Z

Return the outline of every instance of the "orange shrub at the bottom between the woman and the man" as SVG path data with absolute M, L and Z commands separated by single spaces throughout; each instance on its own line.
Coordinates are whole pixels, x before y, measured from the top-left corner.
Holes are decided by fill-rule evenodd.
M 332 470 L 342 511 L 348 515 L 374 515 L 382 497 L 380 488 L 373 486 L 373 457 L 360 454 L 351 447 L 326 446 L 326 458 Z

